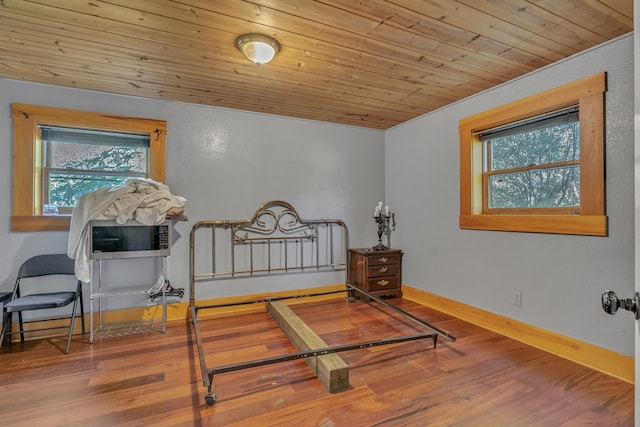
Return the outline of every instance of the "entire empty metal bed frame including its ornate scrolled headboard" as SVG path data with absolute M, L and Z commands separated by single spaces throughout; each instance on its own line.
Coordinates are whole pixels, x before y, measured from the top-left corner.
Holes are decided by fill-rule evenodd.
M 199 251 L 200 246 L 197 245 L 196 240 L 200 241 L 203 238 L 203 230 L 207 229 L 210 230 L 210 233 L 204 234 L 204 236 L 208 238 L 209 245 Z M 205 268 L 204 272 L 200 271 L 202 268 Z M 214 279 L 264 277 L 266 275 L 292 272 L 331 271 L 345 271 L 346 283 L 344 289 L 302 295 L 254 298 L 227 304 L 207 304 L 204 299 L 199 300 L 197 297 L 199 288 L 205 284 L 210 285 Z M 430 338 L 433 341 L 435 348 L 438 336 L 443 336 L 449 341 L 455 341 L 455 337 L 447 332 L 420 320 L 381 298 L 371 295 L 369 292 L 351 285 L 349 277 L 349 231 L 343 221 L 336 219 L 303 219 L 291 204 L 281 200 L 263 203 L 250 219 L 200 221 L 196 223 L 192 227 L 190 234 L 189 275 L 191 324 L 195 335 L 202 382 L 204 387 L 207 388 L 205 394 L 205 403 L 207 405 L 212 405 L 217 401 L 217 396 L 212 391 L 213 379 L 217 374 L 289 360 L 426 338 Z M 207 364 L 201 332 L 199 331 L 198 314 L 201 311 L 342 292 L 348 294 L 349 301 L 353 301 L 356 295 L 364 297 L 366 301 L 376 301 L 424 327 L 427 332 L 298 351 L 223 366 L 210 367 Z

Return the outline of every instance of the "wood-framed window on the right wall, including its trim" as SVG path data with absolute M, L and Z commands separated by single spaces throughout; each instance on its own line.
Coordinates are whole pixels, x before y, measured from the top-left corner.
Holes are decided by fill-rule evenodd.
M 604 73 L 460 121 L 460 228 L 605 236 Z

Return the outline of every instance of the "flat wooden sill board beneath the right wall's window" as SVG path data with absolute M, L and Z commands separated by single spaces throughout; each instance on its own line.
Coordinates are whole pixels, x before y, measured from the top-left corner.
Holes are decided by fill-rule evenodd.
M 606 215 L 460 215 L 467 230 L 607 236 Z

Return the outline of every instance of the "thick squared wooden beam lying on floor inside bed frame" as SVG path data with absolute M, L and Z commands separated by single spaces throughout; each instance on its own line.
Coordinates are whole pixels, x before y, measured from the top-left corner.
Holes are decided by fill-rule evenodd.
M 298 351 L 329 347 L 284 302 L 267 301 L 266 309 Z M 349 389 L 349 367 L 337 354 L 307 357 L 304 360 L 329 393 Z

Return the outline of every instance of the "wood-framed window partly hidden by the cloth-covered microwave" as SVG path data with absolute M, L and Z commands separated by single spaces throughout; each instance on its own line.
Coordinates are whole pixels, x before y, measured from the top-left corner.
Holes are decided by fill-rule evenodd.
M 14 104 L 11 230 L 68 230 L 86 192 L 164 181 L 165 134 L 159 120 Z

